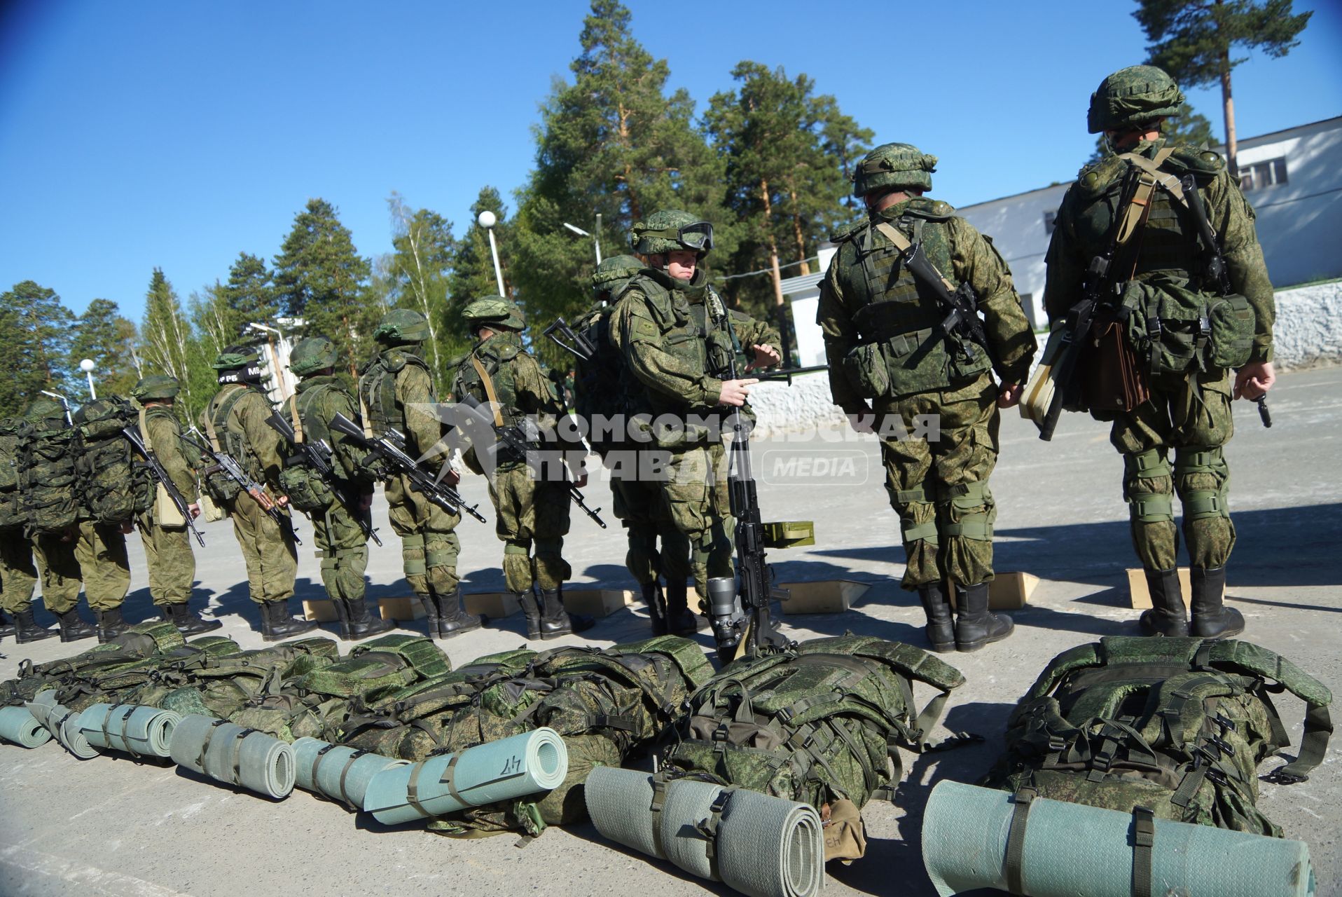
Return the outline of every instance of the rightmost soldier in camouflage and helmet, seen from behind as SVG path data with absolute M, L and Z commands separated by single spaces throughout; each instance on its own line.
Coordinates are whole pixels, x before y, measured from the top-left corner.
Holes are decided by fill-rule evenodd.
M 1161 136 L 1182 105 L 1178 85 L 1154 66 L 1121 68 L 1091 94 L 1087 128 L 1104 134 L 1113 154 L 1083 168 L 1063 197 L 1044 305 L 1049 320 L 1063 321 L 1083 298 L 1102 297 L 1083 337 L 1092 346 L 1113 334 L 1113 348 L 1080 356 L 1080 404 L 1111 424 L 1110 442 L 1123 455 L 1123 498 L 1153 604 L 1142 631 L 1219 638 L 1244 628 L 1240 612 L 1223 604 L 1235 545 L 1223 448 L 1233 431 L 1231 402 L 1257 400 L 1275 380 L 1275 306 L 1253 209 L 1221 157 Z M 1215 246 L 1201 235 L 1198 204 Z M 1107 270 L 1088 275 L 1106 256 Z M 1098 388 L 1114 381 L 1121 356 L 1137 372 L 1126 399 Z M 1174 494 L 1192 565 L 1192 622 L 1177 575 Z

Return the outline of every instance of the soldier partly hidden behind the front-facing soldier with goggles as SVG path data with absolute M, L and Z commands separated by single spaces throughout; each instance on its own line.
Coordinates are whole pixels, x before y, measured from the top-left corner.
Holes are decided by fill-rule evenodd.
M 577 360 L 574 411 L 590 427 L 592 450 L 611 469 L 612 510 L 628 530 L 629 548 L 624 565 L 643 591 L 652 634 L 686 635 L 694 632 L 696 624 L 686 602 L 686 580 L 691 575 L 690 541 L 671 522 L 656 483 L 639 479 L 637 450 L 647 443 L 628 436 L 629 415 L 636 403 L 627 393 L 641 391 L 641 387 L 611 338 L 615 301 L 641 270 L 643 262 L 637 258 L 615 255 L 597 265 L 592 275 L 597 305 L 582 314 L 573 329 L 586 337 L 596 355 L 589 360 Z M 604 422 L 609 424 L 603 426 Z M 666 579 L 666 592 L 659 575 Z

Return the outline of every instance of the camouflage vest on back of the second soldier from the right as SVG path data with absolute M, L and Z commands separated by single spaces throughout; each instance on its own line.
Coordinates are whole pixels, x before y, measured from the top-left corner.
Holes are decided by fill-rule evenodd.
M 882 223 L 922 246 L 927 261 L 951 278 L 950 228 L 954 209 L 946 203 L 913 199 L 898 219 L 864 222 L 835 235 L 844 305 L 859 340 L 843 360 L 844 373 L 864 399 L 900 397 L 964 385 L 992 367 L 986 352 L 973 360 L 958 334 L 937 326 L 946 309 L 921 286 L 899 248 L 880 232 Z M 985 238 L 986 239 L 986 238 Z

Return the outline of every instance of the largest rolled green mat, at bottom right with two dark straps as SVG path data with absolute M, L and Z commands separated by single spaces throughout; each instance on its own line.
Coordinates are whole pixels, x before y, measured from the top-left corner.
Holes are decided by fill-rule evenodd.
M 1007 847 L 1017 803 L 1012 794 L 942 782 L 923 811 L 922 851 L 941 897 L 981 888 L 1011 890 Z M 1150 893 L 1217 897 L 1311 897 L 1310 847 L 1244 831 L 1151 820 L 1150 846 L 1130 812 L 1035 798 L 1025 822 L 1019 892 L 1027 897 L 1129 897 L 1145 873 Z M 1150 824 L 1150 823 L 1147 823 Z M 1138 837 L 1143 835 L 1143 837 Z M 1131 874 L 1127 870 L 1133 870 Z

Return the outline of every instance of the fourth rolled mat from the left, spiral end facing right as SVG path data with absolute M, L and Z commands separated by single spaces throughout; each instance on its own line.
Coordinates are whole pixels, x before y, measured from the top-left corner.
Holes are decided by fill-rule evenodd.
M 264 732 L 191 713 L 172 730 L 168 756 L 215 782 L 240 786 L 268 798 L 294 790 L 294 748 Z

